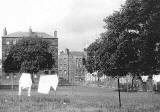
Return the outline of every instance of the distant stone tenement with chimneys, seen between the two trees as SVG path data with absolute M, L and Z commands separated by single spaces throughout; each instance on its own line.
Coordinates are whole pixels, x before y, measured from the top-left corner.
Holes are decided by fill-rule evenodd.
M 85 56 L 85 52 L 69 51 L 69 49 L 61 51 L 58 56 L 59 77 L 69 83 L 84 80 L 85 67 L 83 58 Z

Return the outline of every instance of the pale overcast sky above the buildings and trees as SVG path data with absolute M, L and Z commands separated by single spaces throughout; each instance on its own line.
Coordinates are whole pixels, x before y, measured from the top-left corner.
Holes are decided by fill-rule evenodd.
M 1 0 L 0 30 L 58 31 L 59 50 L 82 51 L 103 32 L 103 19 L 125 0 Z

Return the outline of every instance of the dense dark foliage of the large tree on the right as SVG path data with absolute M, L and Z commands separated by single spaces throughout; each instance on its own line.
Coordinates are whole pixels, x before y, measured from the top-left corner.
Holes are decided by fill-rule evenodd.
M 157 74 L 159 20 L 158 0 L 126 0 L 119 11 L 104 19 L 106 31 L 101 34 L 101 44 L 95 41 L 88 47 L 88 68 L 93 68 L 93 62 L 98 60 L 94 69 L 109 76 Z

